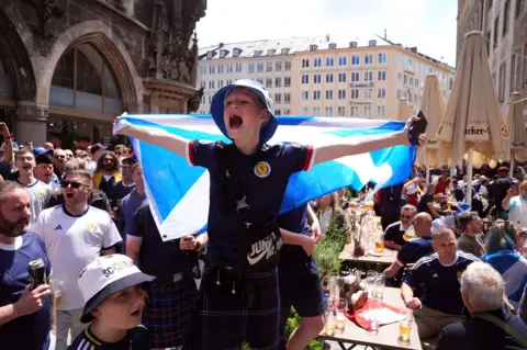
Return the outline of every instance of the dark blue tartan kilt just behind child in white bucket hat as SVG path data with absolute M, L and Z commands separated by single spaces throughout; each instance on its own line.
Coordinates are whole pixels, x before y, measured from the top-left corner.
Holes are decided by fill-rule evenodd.
M 176 283 L 156 279 L 145 284 L 145 291 L 148 303 L 142 321 L 149 330 L 152 348 L 181 346 L 198 297 L 194 280 L 187 275 Z

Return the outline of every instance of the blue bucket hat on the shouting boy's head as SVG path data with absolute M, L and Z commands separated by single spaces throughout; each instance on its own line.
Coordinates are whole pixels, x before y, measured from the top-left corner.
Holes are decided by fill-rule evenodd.
M 221 88 L 212 97 L 212 102 L 211 102 L 211 114 L 214 120 L 214 123 L 216 123 L 217 127 L 223 133 L 223 135 L 228 137 L 227 128 L 225 127 L 225 121 L 223 120 L 223 110 L 225 106 L 225 97 L 227 95 L 228 91 L 231 91 L 231 89 L 236 87 L 244 87 L 255 91 L 260 97 L 261 101 L 264 101 L 264 103 L 266 104 L 267 110 L 270 113 L 270 117 L 267 124 L 261 127 L 260 140 L 264 143 L 267 143 L 269 139 L 271 139 L 272 135 L 274 135 L 274 132 L 277 131 L 279 123 L 278 123 L 278 120 L 274 117 L 274 114 L 272 114 L 272 110 L 271 110 L 272 100 L 269 97 L 269 91 L 267 91 L 266 87 L 264 87 L 258 81 L 250 80 L 250 79 L 240 79 L 240 80 L 237 80 L 235 83 L 231 83 L 228 86 Z

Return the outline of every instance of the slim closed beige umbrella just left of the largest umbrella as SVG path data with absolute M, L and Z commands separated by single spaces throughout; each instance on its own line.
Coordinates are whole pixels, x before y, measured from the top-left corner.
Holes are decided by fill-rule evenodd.
M 439 131 L 439 123 L 441 122 L 445 112 L 441 88 L 439 87 L 439 80 L 435 75 L 426 76 L 423 99 L 421 100 L 421 111 L 425 114 L 425 117 L 428 121 L 426 133 L 431 136 L 428 138 L 426 146 L 419 149 L 419 156 L 424 155 L 425 158 L 426 184 L 428 184 L 430 177 L 430 160 L 434 159 L 435 162 L 438 162 L 437 157 L 435 157 L 439 146 L 437 132 Z M 431 166 L 436 167 L 437 163 L 431 163 Z

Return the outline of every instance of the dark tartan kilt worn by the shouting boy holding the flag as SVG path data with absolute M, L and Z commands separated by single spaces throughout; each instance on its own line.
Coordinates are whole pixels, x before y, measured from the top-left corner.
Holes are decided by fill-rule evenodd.
M 248 343 L 251 350 L 278 349 L 278 269 L 247 273 L 246 279 L 255 287 L 250 307 L 247 307 L 239 293 L 211 294 L 204 291 L 202 283 L 197 311 L 184 340 L 184 350 L 242 349 L 244 343 Z

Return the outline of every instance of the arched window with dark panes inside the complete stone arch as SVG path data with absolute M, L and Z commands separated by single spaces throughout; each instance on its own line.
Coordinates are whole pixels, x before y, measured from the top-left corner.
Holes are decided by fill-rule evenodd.
M 52 80 L 49 104 L 119 114 L 121 89 L 104 57 L 90 44 L 66 52 Z

